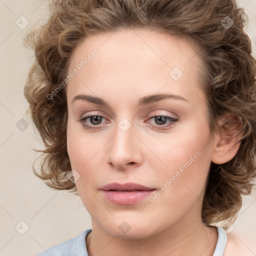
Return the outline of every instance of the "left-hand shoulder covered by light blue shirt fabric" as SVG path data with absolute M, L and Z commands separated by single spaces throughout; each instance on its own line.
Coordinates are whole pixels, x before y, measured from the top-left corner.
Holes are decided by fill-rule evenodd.
M 85 236 L 90 231 L 91 229 L 84 230 L 79 235 L 42 251 L 38 256 L 73 256 L 77 255 L 77 252 L 86 255 Z

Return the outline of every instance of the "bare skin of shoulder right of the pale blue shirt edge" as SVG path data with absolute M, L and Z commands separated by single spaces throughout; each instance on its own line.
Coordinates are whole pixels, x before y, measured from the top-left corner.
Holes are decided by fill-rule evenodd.
M 226 247 L 223 256 L 253 256 L 253 252 L 249 249 L 246 241 L 242 241 L 236 233 L 226 235 Z

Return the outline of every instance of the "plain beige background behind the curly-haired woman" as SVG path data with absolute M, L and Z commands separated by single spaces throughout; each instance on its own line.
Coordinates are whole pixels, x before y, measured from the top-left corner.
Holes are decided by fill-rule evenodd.
M 255 53 L 256 0 L 239 0 L 238 4 L 249 16 L 246 31 Z M 19 27 L 25 25 L 24 18 L 20 22 L 22 15 L 29 22 L 23 29 Z M 32 162 L 40 154 L 32 148 L 41 149 L 43 144 L 24 116 L 28 103 L 23 86 L 33 53 L 22 46 L 22 38 L 40 18 L 47 18 L 47 0 L 0 0 L 0 256 L 37 255 L 91 228 L 90 216 L 78 196 L 50 189 L 32 173 Z M 16 123 L 23 117 L 29 126 L 21 131 Z M 35 167 L 38 170 L 38 160 Z M 232 231 L 251 255 L 256 254 L 255 213 L 254 189 L 252 195 L 243 197 Z

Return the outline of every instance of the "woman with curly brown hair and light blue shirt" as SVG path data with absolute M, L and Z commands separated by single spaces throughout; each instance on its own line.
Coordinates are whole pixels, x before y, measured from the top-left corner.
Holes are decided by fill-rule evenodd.
M 87 229 L 43 255 L 250 255 L 255 59 L 234 0 L 55 0 L 26 37 L 41 173 Z M 215 223 L 224 221 L 225 226 Z

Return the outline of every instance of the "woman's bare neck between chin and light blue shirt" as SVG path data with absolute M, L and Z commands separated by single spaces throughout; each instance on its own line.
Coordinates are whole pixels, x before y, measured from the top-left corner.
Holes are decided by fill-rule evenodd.
M 89 256 L 117 255 L 162 255 L 162 256 L 212 256 L 217 230 L 201 221 L 175 223 L 159 233 L 145 238 L 123 238 L 110 235 L 92 219 L 92 231 L 87 235 L 86 247 Z

